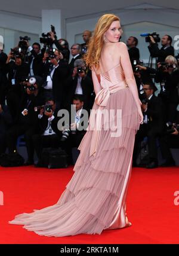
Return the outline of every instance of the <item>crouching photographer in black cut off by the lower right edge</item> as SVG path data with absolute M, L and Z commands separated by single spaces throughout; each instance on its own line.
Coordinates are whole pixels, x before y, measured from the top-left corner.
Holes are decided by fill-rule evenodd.
M 177 129 L 176 129 L 177 128 Z M 162 167 L 175 166 L 175 161 L 172 157 L 170 148 L 179 148 L 179 124 L 171 123 L 160 138 L 161 153 L 165 162 Z

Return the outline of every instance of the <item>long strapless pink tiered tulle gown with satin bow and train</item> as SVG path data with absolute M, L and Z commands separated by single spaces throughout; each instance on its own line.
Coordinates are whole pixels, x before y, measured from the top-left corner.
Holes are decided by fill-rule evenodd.
M 96 92 L 92 109 L 122 109 L 121 136 L 112 137 L 112 131 L 104 129 L 103 118 L 98 130 L 90 130 L 90 123 L 79 145 L 81 153 L 73 169 L 75 173 L 58 202 L 30 214 L 17 215 L 11 224 L 23 224 L 39 235 L 57 237 L 100 234 L 105 229 L 131 225 L 126 217 L 126 192 L 140 117 L 138 99 L 134 99 L 135 94 L 129 89 L 136 84 L 128 55 L 126 58 L 129 66 L 126 72 L 121 61 L 99 75 L 92 71 Z M 90 120 L 93 117 L 91 114 Z

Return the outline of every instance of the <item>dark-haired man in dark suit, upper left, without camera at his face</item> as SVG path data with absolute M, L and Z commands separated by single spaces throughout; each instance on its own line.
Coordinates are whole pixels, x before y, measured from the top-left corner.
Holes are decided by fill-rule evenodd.
M 38 42 L 34 42 L 32 46 L 29 45 L 27 41 L 27 45 L 29 46 L 28 50 L 31 55 L 29 56 L 29 65 L 30 65 L 30 73 L 29 75 L 38 75 L 42 77 L 42 53 L 41 53 L 41 45 Z

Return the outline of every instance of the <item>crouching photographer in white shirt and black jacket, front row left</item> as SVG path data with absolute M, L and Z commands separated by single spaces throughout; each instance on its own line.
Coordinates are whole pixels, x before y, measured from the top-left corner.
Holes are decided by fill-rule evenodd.
M 61 144 L 61 132 L 57 127 L 58 119 L 55 100 L 50 97 L 38 115 L 39 131 L 33 135 L 33 144 L 39 160 L 43 148 L 58 148 Z

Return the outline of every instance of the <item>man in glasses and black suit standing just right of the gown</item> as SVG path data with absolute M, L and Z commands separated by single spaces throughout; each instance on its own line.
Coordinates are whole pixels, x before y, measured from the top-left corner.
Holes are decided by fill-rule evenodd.
M 145 83 L 143 90 L 146 94 L 146 102 L 141 105 L 144 115 L 144 123 L 140 126 L 135 136 L 133 163 L 140 151 L 140 144 L 144 137 L 147 136 L 149 146 L 149 163 L 147 169 L 158 167 L 158 149 L 156 139 L 161 136 L 163 131 L 163 111 L 162 100 L 154 95 L 154 85 L 152 82 Z

